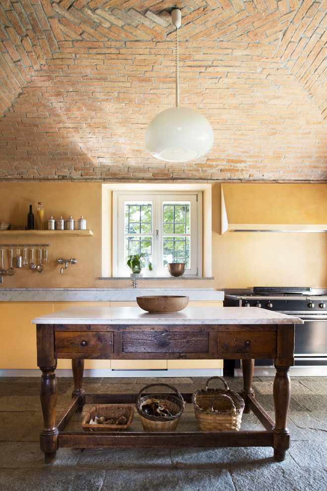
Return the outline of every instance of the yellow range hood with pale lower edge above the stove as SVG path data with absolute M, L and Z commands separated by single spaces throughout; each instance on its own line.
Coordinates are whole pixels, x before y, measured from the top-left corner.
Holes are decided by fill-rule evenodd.
M 225 232 L 327 232 L 327 184 L 221 184 Z

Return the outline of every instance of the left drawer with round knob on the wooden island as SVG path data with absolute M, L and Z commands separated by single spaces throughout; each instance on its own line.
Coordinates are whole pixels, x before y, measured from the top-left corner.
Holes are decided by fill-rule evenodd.
M 112 332 L 64 332 L 55 331 L 56 353 L 112 353 Z

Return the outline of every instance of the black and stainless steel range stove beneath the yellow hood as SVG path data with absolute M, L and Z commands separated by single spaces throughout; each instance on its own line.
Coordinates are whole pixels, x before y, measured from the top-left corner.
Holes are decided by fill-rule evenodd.
M 295 365 L 292 375 L 327 375 L 327 291 L 311 287 L 255 287 L 224 290 L 224 307 L 258 307 L 297 315 L 304 324 L 295 327 Z M 241 375 L 239 362 L 234 374 Z M 272 360 L 257 360 L 254 374 L 274 373 Z

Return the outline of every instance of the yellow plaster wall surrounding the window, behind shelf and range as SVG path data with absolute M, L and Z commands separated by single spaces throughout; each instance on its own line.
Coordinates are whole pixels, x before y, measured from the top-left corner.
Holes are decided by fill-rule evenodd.
M 274 184 L 228 184 L 229 186 Z M 275 184 L 280 185 L 280 184 Z M 286 184 L 285 184 L 286 185 Z M 303 184 L 291 185 L 301 192 Z M 238 186 L 240 186 L 238 188 Z M 265 187 L 266 186 L 266 187 Z M 321 186 L 306 184 L 306 186 Z M 320 188 L 321 189 L 321 188 Z M 327 288 L 327 234 L 325 233 L 226 233 L 220 235 L 220 184 L 212 186 L 212 276 L 210 280 L 139 281 L 140 287 L 214 287 L 248 288 L 253 286 L 312 286 Z M 326 192 L 321 195 L 321 206 L 327 209 Z M 325 199 L 324 199 L 325 198 Z M 99 280 L 102 275 L 102 185 L 101 183 L 31 182 L 0 183 L 0 220 L 13 224 L 26 224 L 29 204 L 36 212 L 38 201 L 45 204 L 45 218 L 50 215 L 75 219 L 83 215 L 87 227 L 94 236 L 83 238 L 44 238 L 49 241 L 49 262 L 43 273 L 23 268 L 12 277 L 5 276 L 0 288 L 129 288 L 130 280 Z M 263 203 L 264 204 L 264 203 Z M 263 204 L 259 203 L 261 208 Z M 273 210 L 271 210 L 273 213 Z M 35 213 L 36 214 L 36 213 Z M 19 236 L 18 242 L 33 238 Z M 40 239 L 39 239 L 40 240 Z M 13 239 L 0 235 L 0 243 L 12 243 Z M 6 251 L 7 253 L 7 251 Z M 204 250 L 206 254 L 206 250 Z M 57 257 L 76 257 L 78 263 L 69 265 L 60 274 Z M 8 265 L 8 255 L 5 258 Z

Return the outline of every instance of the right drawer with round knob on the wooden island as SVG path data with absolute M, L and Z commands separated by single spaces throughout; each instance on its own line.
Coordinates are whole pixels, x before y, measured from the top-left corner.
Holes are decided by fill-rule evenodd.
M 218 353 L 274 353 L 277 335 L 272 332 L 221 332 L 218 334 Z

